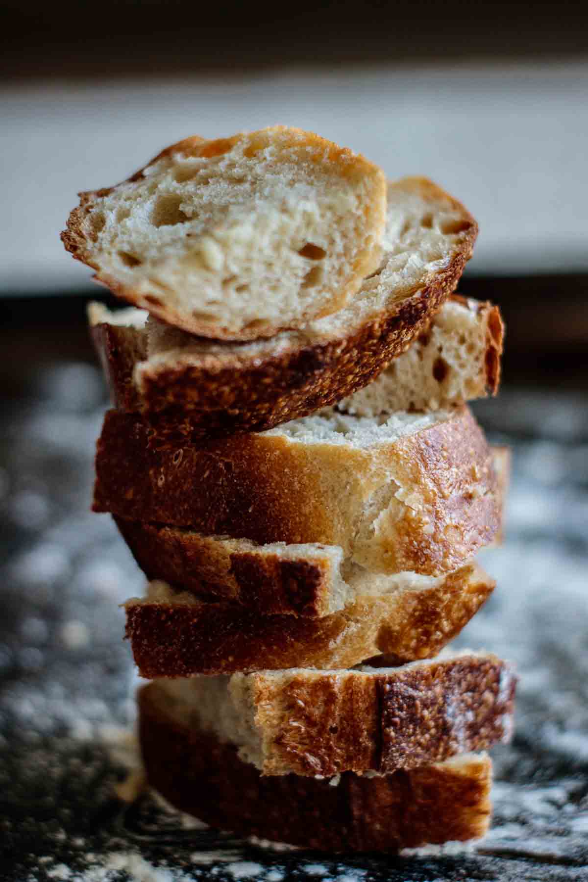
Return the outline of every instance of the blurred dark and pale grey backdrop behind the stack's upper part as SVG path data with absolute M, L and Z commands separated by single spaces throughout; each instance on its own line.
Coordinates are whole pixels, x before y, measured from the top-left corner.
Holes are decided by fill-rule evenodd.
M 90 359 L 88 295 L 58 234 L 79 190 L 162 146 L 271 123 L 391 177 L 432 177 L 480 221 L 462 285 L 509 326 L 506 381 L 582 381 L 588 342 L 586 4 L 8 0 L 0 4 L 6 393 Z M 41 299 L 42 297 L 42 299 Z M 37 299 L 39 298 L 39 299 Z

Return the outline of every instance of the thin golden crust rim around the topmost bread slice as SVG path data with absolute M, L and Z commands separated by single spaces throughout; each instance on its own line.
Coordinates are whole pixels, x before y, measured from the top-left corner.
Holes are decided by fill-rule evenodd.
M 368 217 L 372 218 L 371 228 L 377 230 L 378 235 L 380 235 L 384 223 L 386 193 L 386 182 L 382 170 L 373 162 L 366 160 L 361 154 L 353 153 L 347 147 L 339 147 L 313 132 L 288 128 L 287 126 L 278 125 L 272 129 L 257 131 L 251 134 L 240 132 L 231 138 L 205 140 L 197 135 L 191 138 L 184 138 L 182 141 L 166 147 L 153 160 L 150 160 L 143 168 L 140 168 L 138 172 L 130 176 L 126 181 L 123 181 L 122 184 L 141 180 L 145 177 L 145 169 L 152 166 L 154 162 L 166 159 L 167 157 L 173 157 L 179 153 L 191 157 L 219 156 L 231 150 L 240 140 L 245 139 L 249 141 L 249 146 L 247 147 L 247 150 L 250 152 L 249 155 L 253 155 L 258 150 L 269 146 L 272 143 L 272 136 L 276 134 L 288 135 L 293 139 L 293 143 L 300 142 L 305 147 L 304 161 L 318 163 L 319 161 L 326 160 L 337 165 L 341 176 L 349 178 L 365 176 L 372 178 L 376 185 L 372 194 L 372 204 L 365 206 L 364 216 L 366 222 L 368 222 Z M 258 337 L 272 337 L 282 329 L 283 325 L 272 325 L 269 321 L 257 321 L 253 323 L 253 327 L 249 328 L 248 325 L 245 325 L 240 329 L 223 325 L 219 322 L 214 323 L 210 320 L 203 321 L 202 318 L 197 317 L 197 313 L 189 314 L 186 310 L 178 310 L 170 303 L 162 303 L 159 297 L 153 294 L 145 295 L 139 288 L 133 288 L 129 284 L 121 283 L 115 278 L 115 275 L 108 273 L 108 270 L 100 268 L 93 260 L 91 249 L 88 247 L 86 218 L 97 198 L 108 196 L 122 184 L 118 183 L 113 187 L 79 193 L 80 205 L 71 211 L 66 228 L 61 235 L 65 249 L 70 251 L 74 258 L 97 271 L 93 277 L 97 282 L 105 285 L 115 296 L 135 306 L 149 310 L 153 316 L 160 318 L 161 321 L 167 322 L 169 325 L 175 325 L 187 333 L 199 334 L 214 340 L 256 340 Z M 443 191 L 436 188 L 435 184 L 424 179 L 421 187 L 423 191 L 430 190 L 431 193 L 435 194 L 436 198 L 439 198 L 439 194 L 443 194 Z M 456 200 L 453 200 L 447 194 L 443 194 L 443 198 L 453 203 L 454 206 L 458 206 L 465 213 L 465 209 Z M 475 226 L 473 219 L 472 222 Z M 475 239 L 476 232 L 477 228 L 475 228 L 475 231 L 473 230 L 473 240 Z M 467 241 L 467 237 L 464 239 L 465 241 Z M 331 312 L 342 309 L 350 295 L 353 295 L 357 288 L 360 287 L 361 280 L 376 270 L 378 254 L 379 251 L 373 247 L 359 253 L 354 260 L 353 272 L 346 281 L 346 285 L 342 286 L 338 292 L 332 293 L 328 305 L 322 311 L 316 311 L 312 315 L 302 317 L 300 324 L 304 324 L 305 321 L 312 319 L 323 318 Z

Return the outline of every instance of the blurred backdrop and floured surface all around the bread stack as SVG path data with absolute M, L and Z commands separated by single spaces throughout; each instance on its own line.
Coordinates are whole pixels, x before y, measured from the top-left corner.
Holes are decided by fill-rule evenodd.
M 121 826 L 102 787 L 119 774 L 102 736 L 134 715 L 116 604 L 143 578 L 89 512 L 107 396 L 85 310 L 114 298 L 59 233 L 77 191 L 163 146 L 272 123 L 462 200 L 480 238 L 460 290 L 507 324 L 501 395 L 474 408 L 514 451 L 507 539 L 482 556 L 498 588 L 461 639 L 517 662 L 517 736 L 471 875 L 434 862 L 398 878 L 588 878 L 588 26 L 574 0 L 0 2 L 5 878 L 73 878 L 44 874 L 112 841 L 160 848 L 153 818 Z

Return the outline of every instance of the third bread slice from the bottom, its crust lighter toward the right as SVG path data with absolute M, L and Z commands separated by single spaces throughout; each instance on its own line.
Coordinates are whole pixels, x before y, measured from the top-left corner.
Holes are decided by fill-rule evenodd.
M 495 583 L 477 564 L 438 579 L 370 575 L 354 603 L 331 616 L 261 616 L 206 603 L 163 582 L 126 602 L 126 635 L 140 676 L 234 674 L 281 668 L 353 668 L 374 655 L 429 658 L 456 637 Z M 369 592 L 369 593 L 368 593 Z

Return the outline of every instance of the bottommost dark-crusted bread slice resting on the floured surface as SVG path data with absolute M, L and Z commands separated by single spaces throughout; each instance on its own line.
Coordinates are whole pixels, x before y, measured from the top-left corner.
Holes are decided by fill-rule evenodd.
M 376 777 L 346 772 L 333 787 L 300 775 L 260 775 L 233 744 L 182 720 L 160 684 L 139 691 L 138 710 L 149 784 L 221 830 L 323 851 L 392 852 L 488 831 L 492 765 L 485 755 Z

